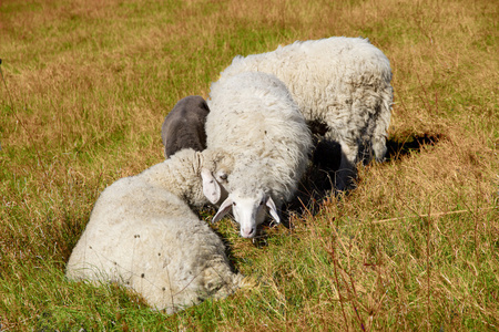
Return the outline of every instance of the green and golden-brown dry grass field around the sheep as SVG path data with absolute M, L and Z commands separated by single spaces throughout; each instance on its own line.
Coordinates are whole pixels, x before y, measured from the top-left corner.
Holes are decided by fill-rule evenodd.
M 499 2 L 0 1 L 1 331 L 497 331 Z M 236 54 L 365 37 L 394 72 L 386 163 L 267 229 L 216 226 L 256 281 L 174 315 L 69 282 L 99 193 Z

